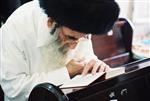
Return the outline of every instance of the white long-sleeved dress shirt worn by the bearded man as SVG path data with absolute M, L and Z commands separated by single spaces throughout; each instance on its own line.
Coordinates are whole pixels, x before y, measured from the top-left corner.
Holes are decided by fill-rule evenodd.
M 27 101 L 37 84 L 60 85 L 70 79 L 65 64 L 58 62 L 62 58 L 53 51 L 48 57 L 43 55 L 52 38 L 47 19 L 36 0 L 18 8 L 1 27 L 0 84 L 5 101 Z M 87 60 L 96 58 L 90 39 L 81 41 L 66 61 L 81 55 Z

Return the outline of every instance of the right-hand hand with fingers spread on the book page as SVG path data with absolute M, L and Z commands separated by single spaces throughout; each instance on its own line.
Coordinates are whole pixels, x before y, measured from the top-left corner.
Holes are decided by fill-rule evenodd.
M 84 67 L 82 75 L 86 75 L 88 72 L 95 74 L 96 72 L 106 72 L 109 71 L 111 68 L 105 64 L 101 60 L 90 60 Z

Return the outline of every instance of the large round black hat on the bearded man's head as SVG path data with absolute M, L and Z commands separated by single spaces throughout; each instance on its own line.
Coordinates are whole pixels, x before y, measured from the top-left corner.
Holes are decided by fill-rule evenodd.
M 39 0 L 39 3 L 59 25 L 91 34 L 109 31 L 120 11 L 114 0 Z

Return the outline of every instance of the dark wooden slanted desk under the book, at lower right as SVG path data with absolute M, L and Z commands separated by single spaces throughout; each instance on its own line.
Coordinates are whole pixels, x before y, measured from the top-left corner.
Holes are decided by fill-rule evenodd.
M 127 71 L 122 75 L 102 81 L 99 79 L 93 85 L 65 93 L 70 101 L 150 101 L 149 62 L 148 58 L 131 62 L 126 64 Z M 123 89 L 127 92 L 121 94 Z

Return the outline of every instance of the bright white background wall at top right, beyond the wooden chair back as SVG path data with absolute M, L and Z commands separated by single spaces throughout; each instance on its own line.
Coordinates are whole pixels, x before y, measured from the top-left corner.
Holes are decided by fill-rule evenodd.
M 116 1 L 121 8 L 120 17 L 128 18 L 133 22 L 136 34 L 150 32 L 150 0 Z

